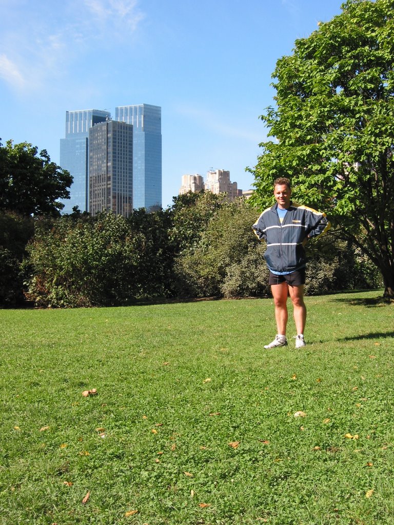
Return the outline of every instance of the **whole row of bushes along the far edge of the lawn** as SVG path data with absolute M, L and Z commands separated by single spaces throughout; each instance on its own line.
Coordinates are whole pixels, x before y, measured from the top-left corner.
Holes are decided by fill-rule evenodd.
M 244 199 L 189 193 L 171 208 L 126 219 L 76 212 L 59 218 L 0 215 L 0 304 L 124 306 L 155 298 L 269 294 L 265 245 Z M 371 288 L 378 271 L 328 233 L 307 247 L 306 293 Z

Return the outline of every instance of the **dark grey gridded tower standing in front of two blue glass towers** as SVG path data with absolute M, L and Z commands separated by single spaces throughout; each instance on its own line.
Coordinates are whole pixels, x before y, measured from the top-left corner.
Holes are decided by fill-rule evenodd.
M 133 211 L 133 127 L 109 120 L 89 130 L 89 211 Z

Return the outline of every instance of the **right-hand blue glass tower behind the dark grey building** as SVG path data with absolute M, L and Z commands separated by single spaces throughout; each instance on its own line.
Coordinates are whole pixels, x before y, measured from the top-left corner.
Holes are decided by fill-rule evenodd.
M 133 125 L 133 208 L 161 207 L 161 108 L 119 106 L 115 120 Z

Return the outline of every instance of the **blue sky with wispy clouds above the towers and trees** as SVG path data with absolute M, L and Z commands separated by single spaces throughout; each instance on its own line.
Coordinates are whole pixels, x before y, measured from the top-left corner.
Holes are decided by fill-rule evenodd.
M 162 108 L 163 207 L 185 173 L 245 172 L 278 58 L 340 0 L 0 0 L 0 137 L 59 163 L 67 110 Z

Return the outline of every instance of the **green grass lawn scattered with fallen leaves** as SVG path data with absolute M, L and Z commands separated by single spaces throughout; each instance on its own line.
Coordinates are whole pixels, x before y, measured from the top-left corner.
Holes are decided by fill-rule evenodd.
M 0 523 L 394 523 L 379 293 L 0 311 Z

